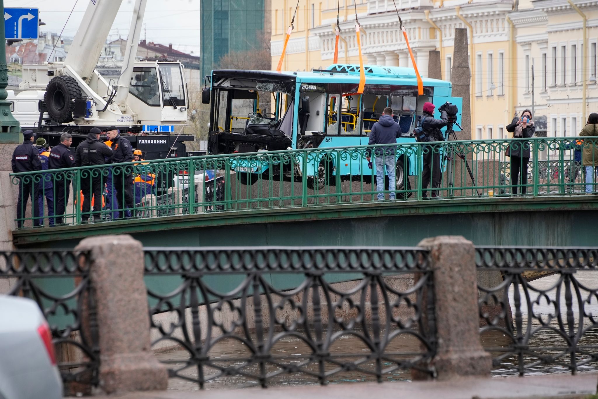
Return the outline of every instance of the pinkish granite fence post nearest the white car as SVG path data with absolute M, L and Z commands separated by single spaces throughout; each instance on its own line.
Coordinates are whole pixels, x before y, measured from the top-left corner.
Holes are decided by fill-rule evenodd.
M 89 237 L 75 250 L 91 251 L 100 388 L 107 393 L 166 389 L 167 369 L 150 348 L 141 242 L 126 235 Z

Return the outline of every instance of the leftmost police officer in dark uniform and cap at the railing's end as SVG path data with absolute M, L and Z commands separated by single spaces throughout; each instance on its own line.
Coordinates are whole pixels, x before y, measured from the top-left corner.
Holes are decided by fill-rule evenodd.
M 38 150 L 33 147 L 33 138 L 35 133 L 33 130 L 25 130 L 23 132 L 23 144 L 17 146 L 13 152 L 13 172 L 33 172 L 41 170 L 41 160 L 39 160 Z M 35 176 L 19 177 L 19 198 L 17 199 L 17 226 L 23 227 L 23 217 L 25 217 L 25 208 L 27 201 L 31 197 L 31 208 L 33 214 L 33 226 L 38 227 L 42 225 L 42 220 L 39 218 L 39 184 L 33 181 Z

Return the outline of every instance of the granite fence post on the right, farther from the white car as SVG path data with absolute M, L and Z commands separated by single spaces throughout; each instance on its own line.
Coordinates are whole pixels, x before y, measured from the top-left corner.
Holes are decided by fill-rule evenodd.
M 461 236 L 426 238 L 434 273 L 438 379 L 490 376 L 492 358 L 480 342 L 474 244 Z

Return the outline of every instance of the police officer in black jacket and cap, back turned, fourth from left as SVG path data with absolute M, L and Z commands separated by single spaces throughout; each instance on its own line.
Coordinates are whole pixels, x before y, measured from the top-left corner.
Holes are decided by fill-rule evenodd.
M 102 130 L 92 127 L 85 141 L 77 146 L 75 151 L 75 166 L 104 165 L 105 157 L 112 157 L 112 149 L 100 142 Z M 89 208 L 91 196 L 94 197 L 93 215 L 94 221 L 101 221 L 102 215 L 102 170 L 83 169 L 81 170 L 81 191 L 83 191 L 83 207 L 81 208 L 81 221 L 89 221 Z

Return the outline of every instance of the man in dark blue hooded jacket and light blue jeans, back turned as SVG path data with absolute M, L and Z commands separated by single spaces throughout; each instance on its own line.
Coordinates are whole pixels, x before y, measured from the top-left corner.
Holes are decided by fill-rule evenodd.
M 395 184 L 395 162 L 396 162 L 396 139 L 401 137 L 401 127 L 395 122 L 392 117 L 392 108 L 386 107 L 382 112 L 380 119 L 374 123 L 370 132 L 370 141 L 368 144 L 393 144 L 388 147 L 374 148 L 374 156 L 376 156 L 376 191 L 378 191 L 378 200 L 384 200 L 384 167 L 386 166 L 386 174 L 388 174 L 388 188 L 390 193 L 388 195 L 390 200 L 396 198 L 396 184 Z M 370 160 L 371 150 L 368 148 L 365 151 L 367 160 Z

